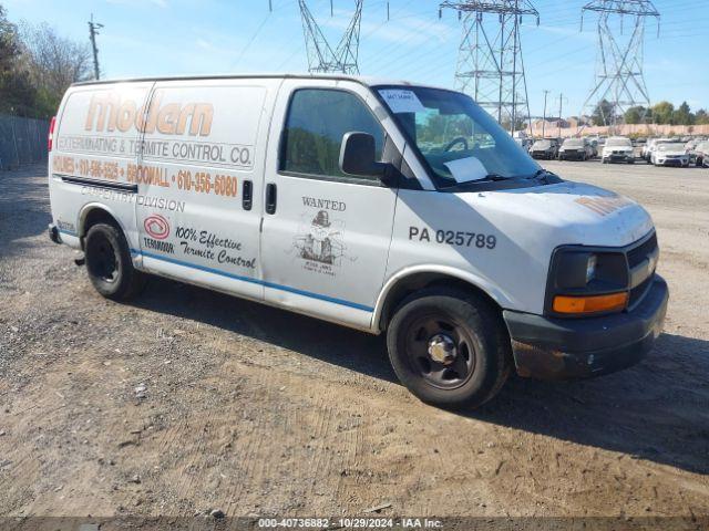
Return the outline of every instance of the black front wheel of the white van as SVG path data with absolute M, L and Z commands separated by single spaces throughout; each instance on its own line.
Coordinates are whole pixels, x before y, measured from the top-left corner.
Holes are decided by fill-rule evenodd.
M 448 336 L 452 361 L 431 344 Z M 387 331 L 389 360 L 403 385 L 427 404 L 474 408 L 494 397 L 510 371 L 511 345 L 500 312 L 481 296 L 438 288 L 404 300 Z

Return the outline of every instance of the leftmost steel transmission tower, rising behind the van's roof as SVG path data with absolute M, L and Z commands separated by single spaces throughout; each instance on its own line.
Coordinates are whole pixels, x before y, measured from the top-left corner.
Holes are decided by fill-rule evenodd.
M 342 74 L 359 74 L 359 34 L 362 22 L 363 0 L 354 0 L 354 13 L 337 48 L 332 48 L 322 30 L 308 9 L 306 0 L 298 0 L 302 32 L 306 38 L 309 72 L 339 72 Z M 330 14 L 333 13 L 330 1 Z

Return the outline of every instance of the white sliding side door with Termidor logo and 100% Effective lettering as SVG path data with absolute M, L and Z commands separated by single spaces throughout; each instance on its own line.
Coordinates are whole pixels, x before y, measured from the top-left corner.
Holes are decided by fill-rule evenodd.
M 277 86 L 277 80 L 156 83 L 134 176 L 147 270 L 263 299 L 260 187 Z

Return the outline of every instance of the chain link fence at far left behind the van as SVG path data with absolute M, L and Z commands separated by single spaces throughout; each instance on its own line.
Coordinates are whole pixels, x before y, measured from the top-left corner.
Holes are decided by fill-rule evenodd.
M 47 162 L 49 121 L 0 114 L 0 170 Z

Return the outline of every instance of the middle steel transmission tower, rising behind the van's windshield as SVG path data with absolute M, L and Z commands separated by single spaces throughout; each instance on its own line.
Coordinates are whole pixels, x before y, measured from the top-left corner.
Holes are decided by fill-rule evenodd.
M 463 20 L 455 80 L 501 124 L 514 132 L 521 118 L 530 117 L 524 77 L 520 25 L 523 15 L 540 23 L 540 13 L 528 0 L 444 1 Z

